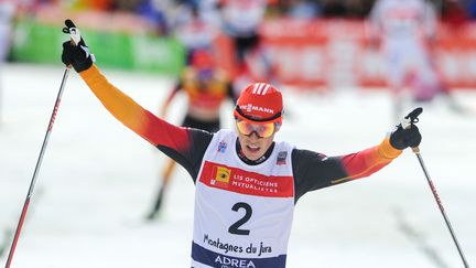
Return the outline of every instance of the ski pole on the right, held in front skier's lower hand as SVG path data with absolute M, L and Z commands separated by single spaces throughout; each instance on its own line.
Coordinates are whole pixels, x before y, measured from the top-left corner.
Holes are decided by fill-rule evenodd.
M 418 120 L 419 120 L 419 119 L 418 119 L 418 116 L 419 116 L 422 111 L 423 111 L 422 108 L 416 108 L 416 109 L 414 109 L 413 111 L 411 111 L 408 116 L 405 116 L 404 119 L 403 119 L 403 121 L 402 121 L 402 128 L 409 128 L 409 127 L 410 127 L 411 125 L 413 125 L 414 122 L 418 122 Z M 461 258 L 462 258 L 462 260 L 463 260 L 463 265 L 464 265 L 465 268 L 469 268 L 469 265 L 468 265 L 468 262 L 466 261 L 466 258 L 465 258 L 465 256 L 464 256 L 464 254 L 463 254 L 463 250 L 462 250 L 462 248 L 461 248 L 461 246 L 459 246 L 459 243 L 458 243 L 458 240 L 457 240 L 457 238 L 456 238 L 456 235 L 455 235 L 455 233 L 454 233 L 454 231 L 453 231 L 453 227 L 452 227 L 452 225 L 451 225 L 451 223 L 450 223 L 450 218 L 446 216 L 446 213 L 445 213 L 445 210 L 444 210 L 443 204 L 442 204 L 442 202 L 441 202 L 440 195 L 439 195 L 439 193 L 436 192 L 436 187 L 434 186 L 433 181 L 432 181 L 431 178 L 430 178 L 430 173 L 428 172 L 426 167 L 425 167 L 425 164 L 424 164 L 424 162 L 423 162 L 423 158 L 422 158 L 422 156 L 421 156 L 420 148 L 419 148 L 419 147 L 413 147 L 413 148 L 412 148 L 412 151 L 414 152 L 414 154 L 416 156 L 416 158 L 418 158 L 418 160 L 419 160 L 420 167 L 422 168 L 423 173 L 424 173 L 424 175 L 425 175 L 425 178 L 426 178 L 426 182 L 428 182 L 428 184 L 429 184 L 429 186 L 430 186 L 430 189 L 431 189 L 431 191 L 432 191 L 432 193 L 433 193 L 433 196 L 434 196 L 434 199 L 435 199 L 435 201 L 436 201 L 436 204 L 437 204 L 437 206 L 439 206 L 439 208 L 440 208 L 440 212 L 441 212 L 441 214 L 443 215 L 443 218 L 444 218 L 444 221 L 445 221 L 445 223 L 446 223 L 446 227 L 448 228 L 450 234 L 451 234 L 451 236 L 452 236 L 452 238 L 453 238 L 453 242 L 454 242 L 454 244 L 456 245 L 456 249 L 458 250 L 459 256 L 461 256 Z

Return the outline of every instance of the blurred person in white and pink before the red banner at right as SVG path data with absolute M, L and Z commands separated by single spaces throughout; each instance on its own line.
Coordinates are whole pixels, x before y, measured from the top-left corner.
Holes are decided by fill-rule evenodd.
M 402 116 L 407 86 L 416 101 L 429 101 L 442 89 L 431 61 L 436 18 L 430 6 L 425 0 L 379 0 L 370 14 L 371 39 L 379 40 L 371 43 L 381 44 L 396 120 Z

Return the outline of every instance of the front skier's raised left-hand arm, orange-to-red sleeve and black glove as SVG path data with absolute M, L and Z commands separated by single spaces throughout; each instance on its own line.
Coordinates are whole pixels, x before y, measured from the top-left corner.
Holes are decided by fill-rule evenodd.
M 69 24 L 69 25 L 68 25 Z M 66 23 L 65 31 L 77 32 L 73 22 Z M 182 128 L 166 122 L 142 108 L 132 98 L 115 87 L 93 63 L 84 40 L 77 45 L 63 43 L 62 61 L 73 65 L 106 109 L 126 127 L 159 148 L 182 164 L 195 179 L 199 163 L 212 135 L 205 131 Z

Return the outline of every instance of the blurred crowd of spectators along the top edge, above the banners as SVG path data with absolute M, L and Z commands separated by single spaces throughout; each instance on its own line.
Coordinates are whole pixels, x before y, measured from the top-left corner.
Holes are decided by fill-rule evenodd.
M 167 34 L 187 9 L 205 17 L 219 17 L 221 7 L 232 0 L 15 0 L 23 13 L 41 15 L 40 10 L 128 13 L 147 21 L 160 34 Z M 442 20 L 462 22 L 476 19 L 476 0 L 425 0 L 432 2 Z M 242 0 L 244 4 L 263 2 L 266 18 L 366 18 L 376 0 Z M 25 8 L 26 7 L 26 8 Z M 48 12 L 47 12 L 48 13 Z M 54 12 L 50 12 L 54 13 Z

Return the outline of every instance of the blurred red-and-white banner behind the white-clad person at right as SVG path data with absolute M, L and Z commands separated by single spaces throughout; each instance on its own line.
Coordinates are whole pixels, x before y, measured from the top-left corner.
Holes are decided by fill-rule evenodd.
M 475 23 L 439 29 L 435 64 L 450 87 L 476 88 L 475 30 Z M 261 33 L 283 84 L 303 88 L 386 86 L 386 63 L 367 45 L 364 21 L 270 20 Z

